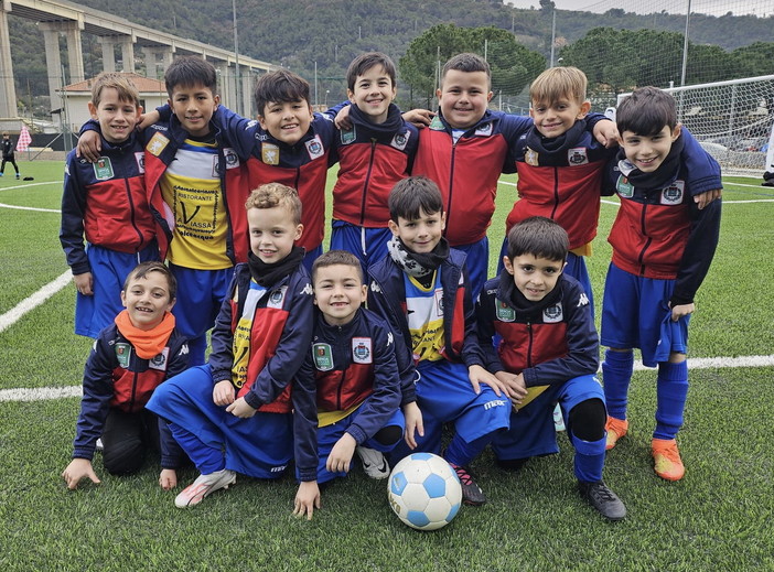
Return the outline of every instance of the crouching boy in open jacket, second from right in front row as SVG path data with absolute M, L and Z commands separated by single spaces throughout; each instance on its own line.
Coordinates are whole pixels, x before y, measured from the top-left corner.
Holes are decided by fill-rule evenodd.
M 438 185 L 410 176 L 389 195 L 389 253 L 368 269 L 369 307 L 399 333 L 396 350 L 413 358 L 419 373 L 418 408 L 405 409 L 406 442 L 439 452 L 441 424 L 455 433 L 443 453 L 462 483 L 469 505 L 486 501 L 467 465 L 507 429 L 510 403 L 501 382 L 483 367 L 470 298 L 465 253 L 443 238 L 445 213 Z M 408 454 L 396 449 L 393 461 Z

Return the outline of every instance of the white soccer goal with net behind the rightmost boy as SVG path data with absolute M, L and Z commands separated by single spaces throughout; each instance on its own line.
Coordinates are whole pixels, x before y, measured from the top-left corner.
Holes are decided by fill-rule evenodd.
M 774 123 L 774 75 L 664 89 L 724 173 L 761 176 Z M 620 94 L 617 102 L 630 94 Z

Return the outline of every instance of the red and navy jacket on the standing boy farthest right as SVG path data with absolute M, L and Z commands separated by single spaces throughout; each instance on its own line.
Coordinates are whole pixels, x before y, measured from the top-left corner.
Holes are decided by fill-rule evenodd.
M 682 134 L 685 136 L 685 129 Z M 720 166 L 703 149 L 695 160 L 680 155 L 679 170 L 660 188 L 634 186 L 627 179 L 633 166 L 619 151 L 609 165 L 604 194 L 616 193 L 621 207 L 608 241 L 613 263 L 644 278 L 675 280 L 671 304 L 688 304 L 701 285 L 714 256 L 720 235 L 721 201 L 699 211 L 694 196 L 722 188 Z M 706 165 L 695 170 L 694 165 Z M 662 165 L 655 173 L 664 168 Z

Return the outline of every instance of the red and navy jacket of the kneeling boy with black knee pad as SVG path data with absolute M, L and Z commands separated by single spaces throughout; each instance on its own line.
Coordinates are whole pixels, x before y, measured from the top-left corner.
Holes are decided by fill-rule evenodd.
M 503 270 L 486 282 L 479 296 L 484 367 L 492 373 L 523 374 L 527 387 L 563 384 L 595 374 L 599 337 L 589 298 L 578 281 L 562 274 L 545 303 L 527 309 L 514 303 L 515 289 L 513 277 Z

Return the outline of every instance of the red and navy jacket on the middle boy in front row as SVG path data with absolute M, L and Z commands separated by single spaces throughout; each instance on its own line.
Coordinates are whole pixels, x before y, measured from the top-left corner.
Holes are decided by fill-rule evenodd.
M 402 374 L 402 376 L 401 376 Z M 347 432 L 358 444 L 373 438 L 400 407 L 401 384 L 413 386 L 413 365 L 401 371 L 389 325 L 373 312 L 361 309 L 344 325 L 330 325 L 315 311 L 314 335 L 297 375 L 300 382 L 316 387 L 316 411 L 345 411 L 364 403 Z M 366 401 L 366 399 L 368 399 Z M 298 425 L 297 425 L 298 428 Z M 297 440 L 316 451 L 316 423 L 309 423 Z M 316 460 L 316 455 L 315 455 Z M 316 466 L 314 463 L 312 466 Z

